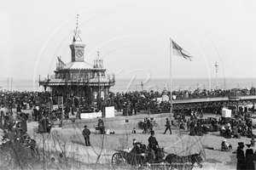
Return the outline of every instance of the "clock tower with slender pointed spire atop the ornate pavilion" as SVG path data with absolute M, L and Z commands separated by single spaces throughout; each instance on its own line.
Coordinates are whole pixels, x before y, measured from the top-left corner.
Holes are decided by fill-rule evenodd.
M 77 26 L 74 31 L 73 36 L 73 43 L 69 45 L 71 48 L 71 61 L 84 61 L 84 47 L 85 44 L 82 42 L 81 37 L 79 34 L 81 31 L 78 30 L 79 28 L 79 14 L 77 15 Z

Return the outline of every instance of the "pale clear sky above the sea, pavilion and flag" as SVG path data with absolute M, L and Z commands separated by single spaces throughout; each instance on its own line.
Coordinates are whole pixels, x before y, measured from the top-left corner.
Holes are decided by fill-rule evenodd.
M 254 0 L 0 0 L 0 77 L 53 75 L 71 62 L 76 16 L 93 64 L 116 77 L 170 77 L 170 38 L 193 55 L 172 56 L 172 77 L 256 79 Z

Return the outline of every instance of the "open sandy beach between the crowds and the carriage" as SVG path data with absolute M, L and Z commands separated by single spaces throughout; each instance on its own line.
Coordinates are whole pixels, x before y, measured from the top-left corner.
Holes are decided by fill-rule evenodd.
M 26 110 L 29 112 L 29 110 Z M 211 116 L 211 115 L 208 115 Z M 43 135 L 34 133 L 35 129 L 38 127 L 37 122 L 28 122 L 28 133 L 36 138 L 39 147 L 42 147 Z M 123 150 L 124 148 L 132 147 L 132 139 L 137 139 L 137 141 L 143 141 L 148 145 L 148 138 L 150 134 L 143 134 L 142 129 L 137 129 L 137 133 L 131 133 L 131 129 L 126 130 L 115 130 L 115 134 L 95 134 L 95 129 L 90 128 L 90 142 L 93 147 L 84 146 L 84 137 L 82 135 L 83 129 L 65 128 L 60 127 L 52 128 L 51 134 L 58 133 L 68 144 L 72 145 L 67 150 L 69 152 L 77 152 L 81 156 L 83 162 L 93 163 L 96 162 L 97 155 L 101 151 L 102 139 L 103 150 L 100 162 L 104 163 L 111 161 L 111 157 L 115 150 Z M 159 127 L 154 129 L 155 138 L 158 140 L 160 147 L 163 147 L 166 153 L 174 153 L 179 156 L 186 156 L 194 153 L 202 153 L 204 158 L 203 167 L 201 169 L 236 169 L 236 154 L 232 152 L 236 151 L 237 143 L 244 142 L 244 144 L 250 144 L 250 139 L 241 137 L 241 139 L 227 139 L 227 142 L 233 146 L 230 152 L 220 151 L 221 142 L 224 137 L 221 137 L 219 133 L 207 133 L 203 136 L 189 136 L 187 130 L 180 130 L 177 127 L 172 127 L 172 134 L 168 131 L 163 134 L 165 127 Z M 254 131 L 254 130 L 253 130 Z M 255 131 L 253 132 L 255 133 Z M 53 144 L 53 139 L 48 138 L 47 142 Z M 207 150 L 203 148 L 203 145 L 213 147 L 216 150 Z M 75 150 L 74 150 L 75 148 Z M 52 150 L 61 150 L 61 148 L 52 147 Z M 245 146 L 244 151 L 247 149 Z M 195 167 L 194 169 L 200 169 Z

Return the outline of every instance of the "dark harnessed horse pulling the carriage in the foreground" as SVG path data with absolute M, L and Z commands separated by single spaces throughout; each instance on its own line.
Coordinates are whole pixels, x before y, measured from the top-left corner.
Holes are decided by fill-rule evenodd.
M 195 153 L 189 156 L 177 156 L 175 154 L 169 154 L 166 156 L 165 161 L 167 163 L 170 163 L 171 167 L 176 168 L 178 170 L 181 169 L 192 169 L 195 167 L 195 162 L 198 164 L 198 166 L 201 168 L 202 164 L 202 157 L 201 152 L 199 154 Z

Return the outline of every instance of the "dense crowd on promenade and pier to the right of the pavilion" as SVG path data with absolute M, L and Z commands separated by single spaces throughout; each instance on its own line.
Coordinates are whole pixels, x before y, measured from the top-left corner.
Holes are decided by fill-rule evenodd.
M 229 90 L 223 89 L 195 89 L 195 91 L 189 90 L 178 90 L 172 91 L 172 96 L 176 99 L 195 99 L 195 98 L 212 98 L 212 97 L 229 97 L 230 92 L 240 92 L 240 95 L 251 95 L 256 94 L 255 88 L 235 88 Z M 138 111 L 170 111 L 170 103 L 168 101 L 157 101 L 157 98 L 166 95 L 170 98 L 170 91 L 163 91 L 162 93 L 157 91 L 135 91 L 126 93 L 110 93 L 107 105 L 115 106 L 117 111 L 123 111 L 124 115 L 137 115 Z M 254 108 L 253 108 L 254 111 Z

